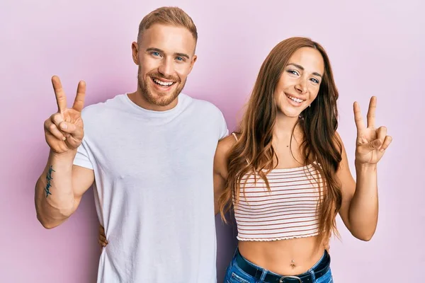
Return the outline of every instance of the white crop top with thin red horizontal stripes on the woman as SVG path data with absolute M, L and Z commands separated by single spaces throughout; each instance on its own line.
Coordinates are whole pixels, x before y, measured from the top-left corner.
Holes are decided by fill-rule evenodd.
M 234 138 L 237 139 L 234 134 Z M 234 203 L 239 241 L 274 241 L 316 236 L 319 182 L 314 166 L 273 169 L 267 175 L 270 191 L 257 175 L 242 178 L 239 202 Z

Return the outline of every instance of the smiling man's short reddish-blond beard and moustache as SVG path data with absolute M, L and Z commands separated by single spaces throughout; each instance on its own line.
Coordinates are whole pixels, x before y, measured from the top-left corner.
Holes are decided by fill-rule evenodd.
M 139 75 L 138 75 L 138 82 L 139 82 L 139 87 L 140 87 L 140 91 L 142 92 L 142 96 L 143 98 L 145 98 L 145 100 L 147 100 L 148 103 L 151 103 L 153 105 L 157 105 L 157 106 L 167 106 L 170 103 L 172 103 L 177 96 L 179 96 L 179 94 L 181 93 L 181 90 L 183 89 L 184 85 L 186 84 L 186 80 L 185 81 L 181 81 L 178 77 L 174 77 L 174 76 L 164 76 L 162 74 L 159 74 L 157 72 L 149 72 L 146 76 L 147 79 L 143 78 L 142 76 L 140 76 L 140 71 L 139 71 Z M 157 92 L 157 95 L 155 96 L 152 88 L 148 85 L 147 80 L 151 80 L 152 81 L 152 77 L 153 78 L 157 78 L 157 79 L 166 79 L 166 80 L 170 80 L 170 81 L 174 81 L 174 83 L 179 83 L 179 86 L 177 86 L 177 88 L 172 92 L 172 93 L 158 93 L 156 90 L 155 92 Z M 173 86 L 171 86 L 173 87 Z

